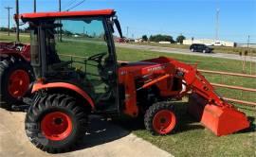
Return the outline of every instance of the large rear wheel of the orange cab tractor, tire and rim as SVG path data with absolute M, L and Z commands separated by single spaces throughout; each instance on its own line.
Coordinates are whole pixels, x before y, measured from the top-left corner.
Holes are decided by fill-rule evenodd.
M 50 153 L 68 151 L 82 139 L 87 114 L 75 98 L 51 94 L 40 97 L 28 110 L 25 120 L 29 140 Z

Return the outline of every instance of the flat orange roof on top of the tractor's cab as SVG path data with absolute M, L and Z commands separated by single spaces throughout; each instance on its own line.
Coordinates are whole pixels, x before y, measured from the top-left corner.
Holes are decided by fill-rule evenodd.
M 62 11 L 62 12 L 37 12 L 20 14 L 22 20 L 63 18 L 79 16 L 111 16 L 115 14 L 114 9 L 84 10 L 84 11 Z

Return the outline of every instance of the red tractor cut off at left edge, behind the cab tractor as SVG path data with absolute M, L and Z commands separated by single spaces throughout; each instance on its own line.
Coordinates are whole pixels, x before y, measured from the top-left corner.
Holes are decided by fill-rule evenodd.
M 30 45 L 0 43 L 0 95 L 4 107 L 21 104 L 33 78 L 30 66 Z

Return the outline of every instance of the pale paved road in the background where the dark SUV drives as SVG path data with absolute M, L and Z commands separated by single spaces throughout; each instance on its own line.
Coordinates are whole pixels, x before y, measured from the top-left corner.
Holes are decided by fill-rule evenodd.
M 241 58 L 239 55 L 235 55 L 235 54 L 226 54 L 226 53 L 203 54 L 203 53 L 191 52 L 188 49 L 160 47 L 160 46 L 152 46 L 152 45 L 137 45 L 137 44 L 116 44 L 116 45 L 119 47 L 124 47 L 124 48 L 132 48 L 132 49 L 140 49 L 140 50 L 148 50 L 148 51 L 156 51 L 156 52 L 185 54 L 185 55 L 193 55 L 193 56 L 204 56 L 204 57 L 213 57 L 213 58 L 222 58 L 222 59 L 232 59 L 232 60 L 239 60 L 239 61 L 244 60 L 244 58 Z M 256 57 L 247 57 L 247 61 L 256 62 Z

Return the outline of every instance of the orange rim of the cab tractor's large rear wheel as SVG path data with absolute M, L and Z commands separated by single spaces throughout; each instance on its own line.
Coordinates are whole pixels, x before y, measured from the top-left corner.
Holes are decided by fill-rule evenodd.
M 49 140 L 63 140 L 72 131 L 71 118 L 62 112 L 47 113 L 41 121 L 41 130 Z

